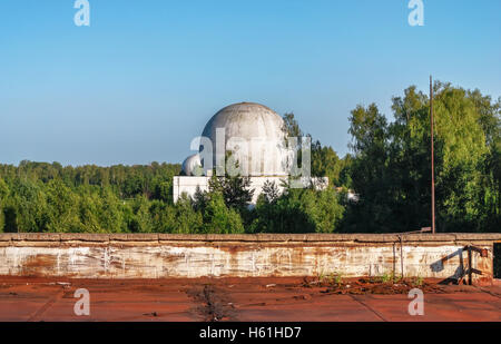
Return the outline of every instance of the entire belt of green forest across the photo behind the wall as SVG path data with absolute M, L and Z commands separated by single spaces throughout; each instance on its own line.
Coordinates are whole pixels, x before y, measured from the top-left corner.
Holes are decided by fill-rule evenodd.
M 500 232 L 501 99 L 434 83 L 438 232 Z M 326 190 L 266 185 L 249 208 L 240 177 L 173 203 L 180 165 L 0 165 L 0 232 L 88 233 L 391 233 L 430 226 L 428 95 L 409 87 L 393 98 L 393 121 L 375 104 L 350 116 L 351 154 L 318 140 L 312 174 Z M 284 115 L 292 136 L 304 132 Z M 284 180 L 287 183 L 287 180 Z M 350 202 L 347 190 L 358 195 Z

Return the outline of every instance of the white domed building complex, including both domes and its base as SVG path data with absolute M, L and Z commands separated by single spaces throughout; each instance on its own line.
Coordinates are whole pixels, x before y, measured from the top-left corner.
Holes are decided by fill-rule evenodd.
M 208 181 L 216 170 L 227 170 L 250 177 L 254 189 L 253 203 L 262 193 L 266 180 L 275 183 L 283 190 L 283 183 L 291 175 L 295 154 L 287 145 L 284 120 L 272 109 L 255 102 L 239 102 L 227 106 L 214 115 L 205 126 L 198 153 L 183 163 L 184 176 L 174 177 L 174 202 L 183 193 L 195 195 L 197 188 L 208 189 Z M 226 154 L 230 156 L 226 159 Z M 237 161 L 237 164 L 235 164 Z M 326 187 L 327 178 L 311 178 L 310 168 L 301 175 L 301 183 L 307 186 Z

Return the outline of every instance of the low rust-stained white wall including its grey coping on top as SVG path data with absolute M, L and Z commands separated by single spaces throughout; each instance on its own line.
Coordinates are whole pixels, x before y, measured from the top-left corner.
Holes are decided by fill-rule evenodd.
M 0 275 L 77 278 L 200 276 L 406 277 L 489 283 L 501 234 L 0 234 Z M 487 255 L 487 256 L 485 256 Z

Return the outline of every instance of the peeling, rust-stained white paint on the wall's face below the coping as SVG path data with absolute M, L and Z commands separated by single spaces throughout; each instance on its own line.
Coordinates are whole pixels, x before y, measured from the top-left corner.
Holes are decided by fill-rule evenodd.
M 130 240 L 132 242 L 132 239 Z M 71 242 L 71 245 L 0 247 L 0 275 L 81 278 L 293 277 L 341 274 L 345 277 L 394 274 L 405 277 L 460 278 L 468 253 L 454 242 L 381 243 L 364 240 L 294 242 L 175 240 L 118 245 Z M 137 243 L 137 245 L 136 245 Z M 149 243 L 149 244 L 148 244 Z M 474 253 L 472 265 L 492 279 L 492 243 L 488 257 Z M 402 271 L 403 266 L 403 271 Z

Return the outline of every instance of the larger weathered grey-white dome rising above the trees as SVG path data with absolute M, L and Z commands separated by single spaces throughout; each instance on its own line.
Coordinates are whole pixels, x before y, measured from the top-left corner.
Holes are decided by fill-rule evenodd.
M 289 153 L 285 148 L 284 120 L 272 109 L 255 102 L 239 102 L 227 106 L 214 115 L 202 134 L 213 142 L 213 167 L 222 159 L 220 155 L 216 156 L 218 128 L 219 134 L 224 132 L 224 140 L 220 138 L 219 142 L 224 144 L 226 151 L 232 151 L 243 174 L 288 175 Z M 202 144 L 200 154 L 203 148 Z M 206 165 L 204 164 L 204 169 L 207 169 Z

